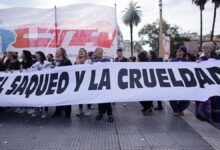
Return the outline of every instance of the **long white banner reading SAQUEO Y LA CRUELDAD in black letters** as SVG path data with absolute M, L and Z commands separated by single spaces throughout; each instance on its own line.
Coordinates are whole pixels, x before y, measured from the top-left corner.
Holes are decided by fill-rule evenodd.
M 96 63 L 0 73 L 0 106 L 58 106 L 220 96 L 220 61 Z

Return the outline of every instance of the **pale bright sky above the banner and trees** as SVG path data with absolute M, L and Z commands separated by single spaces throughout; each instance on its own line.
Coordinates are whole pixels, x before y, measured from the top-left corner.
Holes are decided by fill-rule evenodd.
M 125 39 L 129 39 L 129 28 L 121 22 L 122 11 L 130 0 L 0 0 L 0 9 L 9 7 L 37 7 L 52 8 L 54 5 L 64 6 L 78 3 L 95 3 L 114 7 L 117 4 L 118 24 Z M 159 0 L 134 0 L 141 6 L 143 12 L 142 22 L 134 28 L 134 39 L 138 40 L 138 31 L 146 23 L 151 23 L 159 18 Z M 211 31 L 214 5 L 209 1 L 203 13 L 204 34 Z M 200 31 L 200 12 L 191 0 L 163 0 L 163 18 L 170 24 L 180 27 L 180 32 Z M 220 8 L 217 11 L 215 33 L 220 34 Z

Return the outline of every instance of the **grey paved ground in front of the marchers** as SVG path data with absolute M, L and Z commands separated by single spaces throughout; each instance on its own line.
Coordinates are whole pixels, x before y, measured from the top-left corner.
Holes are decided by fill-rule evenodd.
M 71 119 L 32 118 L 0 112 L 0 150 L 212 150 L 220 146 L 220 131 L 186 111 L 178 118 L 169 106 L 150 116 L 141 114 L 138 103 L 113 107 L 115 122 L 106 117 Z M 52 110 L 53 111 L 53 110 Z M 52 112 L 51 112 L 52 114 Z M 194 129 L 195 128 L 195 129 Z M 219 147 L 218 147 L 219 146 Z

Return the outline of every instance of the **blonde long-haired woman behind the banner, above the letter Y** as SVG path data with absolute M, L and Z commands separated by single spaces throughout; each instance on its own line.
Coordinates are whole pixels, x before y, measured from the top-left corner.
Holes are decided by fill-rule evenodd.
M 87 54 L 86 49 L 80 48 L 78 52 L 78 56 L 76 57 L 76 61 L 74 63 L 75 65 L 80 65 L 80 64 L 89 64 L 89 56 Z M 83 113 L 83 105 L 79 105 L 79 110 L 76 113 L 76 116 L 80 117 L 82 116 Z M 84 116 L 88 117 L 91 115 L 91 104 L 87 104 L 87 110 L 84 114 Z

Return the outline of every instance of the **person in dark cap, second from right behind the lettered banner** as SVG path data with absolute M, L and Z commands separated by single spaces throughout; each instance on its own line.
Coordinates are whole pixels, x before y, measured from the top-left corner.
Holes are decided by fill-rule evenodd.
M 185 62 L 187 56 L 187 49 L 185 46 L 180 46 L 176 52 L 176 58 L 172 59 L 171 62 Z M 175 116 L 183 116 L 183 111 L 189 106 L 189 101 L 170 101 L 170 106 L 173 109 Z

